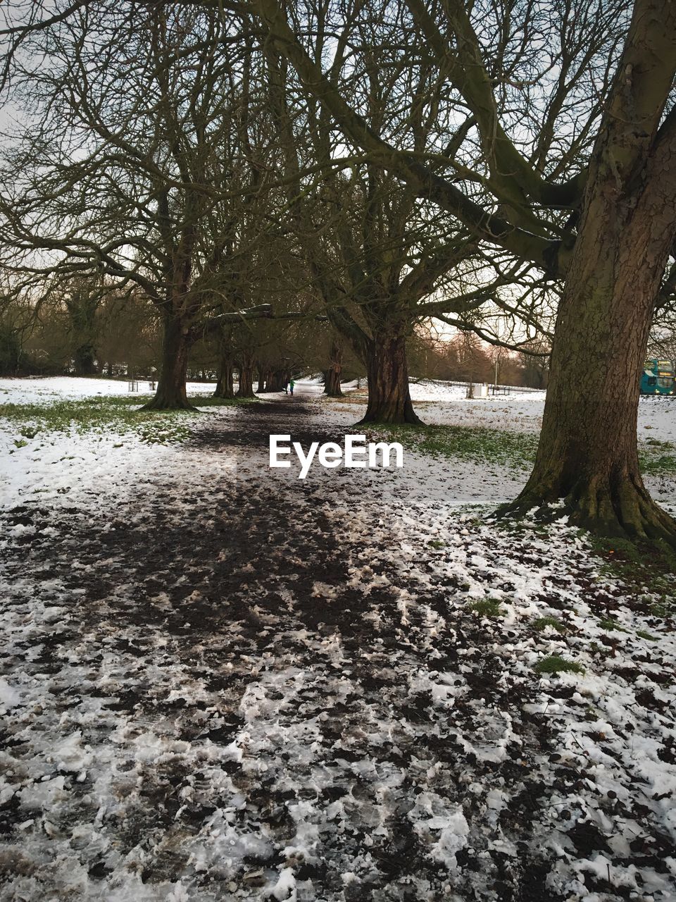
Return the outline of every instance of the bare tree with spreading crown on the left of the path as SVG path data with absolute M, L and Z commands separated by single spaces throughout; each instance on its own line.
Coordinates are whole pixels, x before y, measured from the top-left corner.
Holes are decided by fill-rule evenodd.
M 189 409 L 189 348 L 209 311 L 235 308 L 227 258 L 243 253 L 242 189 L 261 136 L 241 22 L 87 5 L 28 32 L 15 61 L 14 97 L 38 115 L 0 172 L 5 272 L 17 286 L 105 276 L 143 290 L 163 327 L 147 406 Z

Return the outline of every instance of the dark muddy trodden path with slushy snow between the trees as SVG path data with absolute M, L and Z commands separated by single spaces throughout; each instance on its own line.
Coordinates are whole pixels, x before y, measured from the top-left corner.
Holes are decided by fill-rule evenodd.
M 266 474 L 270 432 L 341 438 L 301 398 L 242 406 L 177 454 L 199 480 L 149 474 L 105 527 L 5 515 L 49 533 L 3 551 L 0 660 L 30 678 L 0 899 L 555 902 L 529 690 L 382 498 Z

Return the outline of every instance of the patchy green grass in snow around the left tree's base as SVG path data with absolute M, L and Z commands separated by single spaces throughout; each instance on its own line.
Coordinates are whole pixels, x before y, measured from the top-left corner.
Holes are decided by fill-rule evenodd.
M 46 438 L 54 432 L 135 434 L 149 444 L 185 441 L 190 425 L 198 416 L 190 410 L 138 410 L 151 395 L 131 397 L 100 396 L 85 400 L 53 400 L 30 404 L 1 404 L 0 418 L 7 420 L 20 437 L 16 450 L 28 446 L 29 439 Z M 249 400 L 212 397 L 190 399 L 198 407 L 229 407 Z

